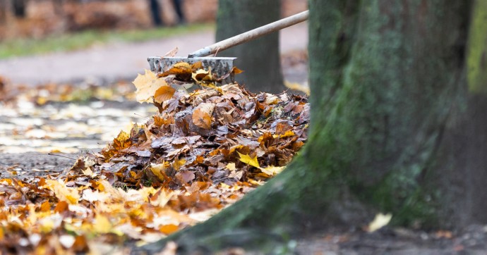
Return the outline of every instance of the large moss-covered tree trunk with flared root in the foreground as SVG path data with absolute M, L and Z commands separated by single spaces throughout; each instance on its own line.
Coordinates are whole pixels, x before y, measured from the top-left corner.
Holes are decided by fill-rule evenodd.
M 262 250 L 378 211 L 423 228 L 487 223 L 487 97 L 466 75 L 467 39 L 484 40 L 469 36 L 483 32 L 469 27 L 481 3 L 311 0 L 308 144 L 263 187 L 168 240 Z

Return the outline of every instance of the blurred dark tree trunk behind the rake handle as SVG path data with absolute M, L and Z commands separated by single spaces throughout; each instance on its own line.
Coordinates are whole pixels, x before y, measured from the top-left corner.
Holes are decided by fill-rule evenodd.
M 220 0 L 217 13 L 217 42 L 261 25 L 279 20 L 280 0 Z M 282 82 L 279 33 L 273 32 L 217 53 L 237 57 L 235 65 L 244 70 L 236 80 L 252 92 L 280 93 Z

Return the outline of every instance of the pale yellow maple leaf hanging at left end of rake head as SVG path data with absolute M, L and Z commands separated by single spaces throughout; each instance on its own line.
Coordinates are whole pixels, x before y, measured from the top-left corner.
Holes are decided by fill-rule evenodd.
M 133 85 L 136 86 L 136 99 L 139 103 L 152 103 L 152 97 L 155 92 L 162 86 L 167 86 L 167 82 L 163 79 L 158 79 L 155 73 L 150 70 L 145 70 L 145 74 L 138 74 L 136 80 L 133 80 Z M 171 95 L 172 97 L 172 95 Z

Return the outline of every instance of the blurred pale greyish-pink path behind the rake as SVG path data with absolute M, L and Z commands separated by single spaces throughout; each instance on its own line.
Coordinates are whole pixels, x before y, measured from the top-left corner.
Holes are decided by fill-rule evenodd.
M 306 49 L 307 24 L 301 23 L 280 32 L 282 53 Z M 91 49 L 44 56 L 26 56 L 0 61 L 0 75 L 13 84 L 39 85 L 46 82 L 111 82 L 131 80 L 148 68 L 149 56 L 161 56 L 179 48 L 179 56 L 215 42 L 214 31 L 203 31 L 150 42 L 111 44 Z M 286 75 L 286 73 L 284 73 Z

